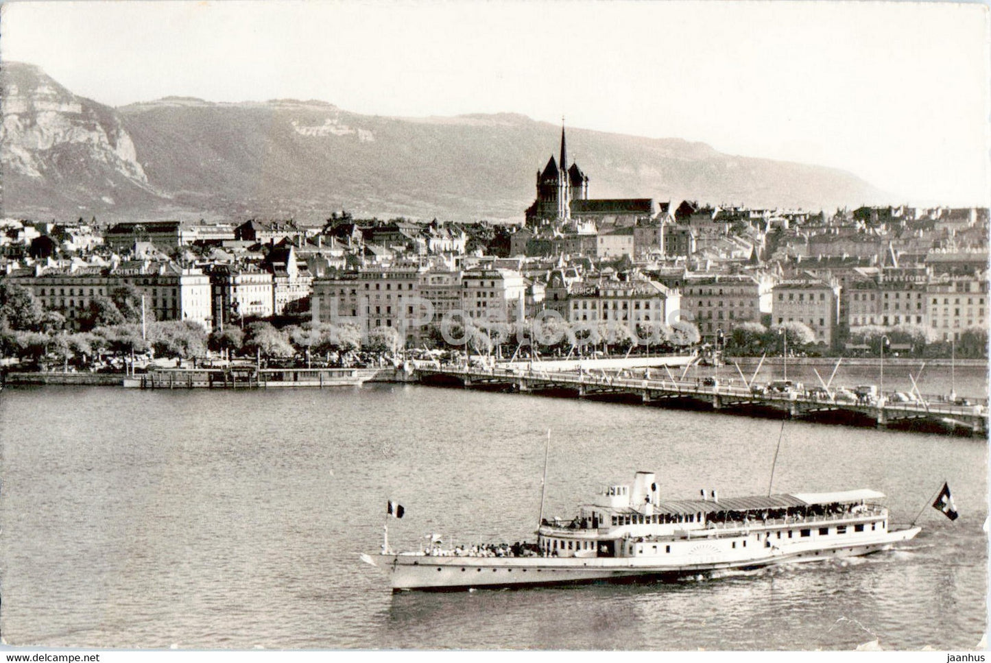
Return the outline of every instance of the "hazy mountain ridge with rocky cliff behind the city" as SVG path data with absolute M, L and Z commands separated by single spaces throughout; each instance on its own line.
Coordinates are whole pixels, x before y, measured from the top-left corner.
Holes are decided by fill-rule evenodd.
M 321 100 L 167 96 L 111 108 L 5 62 L 7 216 L 107 220 L 367 216 L 521 220 L 560 126 L 511 112 L 363 115 Z M 568 128 L 590 196 L 821 208 L 884 201 L 838 168 L 724 155 L 701 142 Z

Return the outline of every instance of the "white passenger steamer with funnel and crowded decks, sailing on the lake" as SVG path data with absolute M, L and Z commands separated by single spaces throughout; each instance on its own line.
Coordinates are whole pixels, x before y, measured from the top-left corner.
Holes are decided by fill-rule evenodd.
M 380 565 L 398 592 L 631 582 L 854 557 L 919 533 L 889 530 L 884 497 L 861 489 L 667 499 L 653 473 L 637 472 L 571 520 L 541 518 L 536 543 L 396 553 L 386 538 Z

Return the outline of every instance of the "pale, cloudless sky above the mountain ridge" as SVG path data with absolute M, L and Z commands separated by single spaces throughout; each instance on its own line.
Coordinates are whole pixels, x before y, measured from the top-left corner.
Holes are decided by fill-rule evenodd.
M 0 58 L 120 106 L 514 112 L 991 204 L 989 11 L 911 2 L 13 2 Z

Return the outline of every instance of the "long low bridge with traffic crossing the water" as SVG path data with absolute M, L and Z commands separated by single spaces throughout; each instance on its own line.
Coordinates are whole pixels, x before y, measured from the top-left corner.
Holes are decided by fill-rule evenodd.
M 893 402 L 883 395 L 872 401 L 848 402 L 808 391 L 761 392 L 750 387 L 704 385 L 687 380 L 646 380 L 584 372 L 505 369 L 420 368 L 425 385 L 460 386 L 552 393 L 579 398 L 691 407 L 714 411 L 806 418 L 837 423 L 873 423 L 878 428 L 936 425 L 945 432 L 964 430 L 987 437 L 987 403 L 956 405 L 937 401 Z

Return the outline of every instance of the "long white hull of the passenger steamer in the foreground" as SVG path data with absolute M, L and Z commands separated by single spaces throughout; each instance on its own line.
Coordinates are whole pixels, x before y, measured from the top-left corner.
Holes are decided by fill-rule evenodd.
M 721 571 L 752 570 L 859 557 L 912 539 L 919 527 L 862 537 L 834 545 L 792 545 L 754 555 L 695 555 L 668 561 L 651 557 L 459 557 L 422 554 L 383 555 L 393 592 L 464 591 L 582 583 L 635 583 L 677 580 Z

